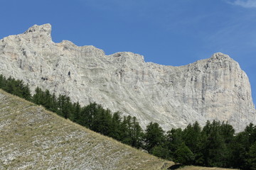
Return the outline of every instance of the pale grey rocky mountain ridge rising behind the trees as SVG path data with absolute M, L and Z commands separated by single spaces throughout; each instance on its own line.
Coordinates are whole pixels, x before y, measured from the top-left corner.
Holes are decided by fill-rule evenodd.
M 235 130 L 256 123 L 250 82 L 238 62 L 220 52 L 181 67 L 144 62 L 142 55 L 105 55 L 68 40 L 55 43 L 51 26 L 33 26 L 0 40 L 0 74 L 35 89 L 65 94 L 82 105 L 102 104 L 136 116 L 142 127 L 164 130 L 206 120 L 228 121 Z

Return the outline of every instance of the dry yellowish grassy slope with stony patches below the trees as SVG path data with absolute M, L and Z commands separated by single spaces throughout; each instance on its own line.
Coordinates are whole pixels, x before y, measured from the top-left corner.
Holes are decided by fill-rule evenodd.
M 0 169 L 161 169 L 174 164 L 0 89 Z M 187 166 L 184 169 L 206 169 Z

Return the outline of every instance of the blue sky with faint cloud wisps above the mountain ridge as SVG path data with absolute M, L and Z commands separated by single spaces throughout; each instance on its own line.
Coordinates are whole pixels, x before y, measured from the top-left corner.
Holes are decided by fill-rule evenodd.
M 256 101 L 256 0 L 0 0 L 0 38 L 50 23 L 54 42 L 146 62 L 184 65 L 223 52 L 247 73 Z

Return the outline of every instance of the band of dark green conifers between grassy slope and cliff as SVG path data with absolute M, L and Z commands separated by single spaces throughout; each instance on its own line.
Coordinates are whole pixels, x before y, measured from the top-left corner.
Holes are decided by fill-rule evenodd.
M 112 113 L 97 103 L 80 106 L 68 96 L 56 96 L 39 87 L 31 95 L 28 84 L 11 77 L 0 75 L 0 88 L 156 157 L 185 165 L 256 169 L 256 126 L 252 123 L 238 134 L 232 125 L 215 120 L 207 121 L 203 128 L 196 122 L 183 130 L 165 132 L 158 123 L 149 123 L 142 130 L 136 117 L 121 117 L 120 112 Z

